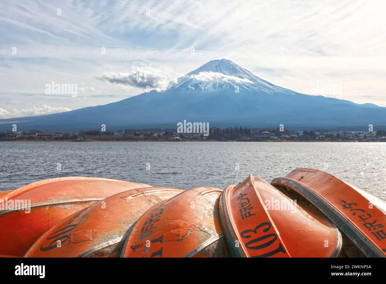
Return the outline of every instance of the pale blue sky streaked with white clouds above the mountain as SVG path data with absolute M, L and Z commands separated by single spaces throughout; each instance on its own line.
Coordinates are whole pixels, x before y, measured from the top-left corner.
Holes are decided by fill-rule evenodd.
M 385 10 L 381 0 L 3 1 L 0 118 L 125 99 L 144 92 L 143 77 L 162 90 L 221 58 L 297 92 L 386 106 Z M 132 83 L 103 80 L 119 76 Z M 76 83 L 78 97 L 45 94 L 52 81 Z

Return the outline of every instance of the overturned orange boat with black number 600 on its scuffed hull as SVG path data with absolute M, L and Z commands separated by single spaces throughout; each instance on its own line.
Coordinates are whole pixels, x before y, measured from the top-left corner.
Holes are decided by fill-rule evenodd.
M 110 196 L 60 221 L 42 235 L 24 256 L 119 257 L 127 232 L 138 218 L 152 206 L 183 191 L 147 187 Z M 61 240 L 60 247 L 58 240 Z

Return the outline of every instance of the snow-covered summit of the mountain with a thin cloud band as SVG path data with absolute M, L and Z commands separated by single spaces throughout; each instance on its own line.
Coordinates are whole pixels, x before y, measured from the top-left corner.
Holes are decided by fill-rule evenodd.
M 291 92 L 262 80 L 250 71 L 227 59 L 212 60 L 205 63 L 196 70 L 178 78 L 178 82 L 171 85 L 170 89 L 214 92 L 224 88 L 235 90 L 237 87 L 239 90 L 250 92 Z

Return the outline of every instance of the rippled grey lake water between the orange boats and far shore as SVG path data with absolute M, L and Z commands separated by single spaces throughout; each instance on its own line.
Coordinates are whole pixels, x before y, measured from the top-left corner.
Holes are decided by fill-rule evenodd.
M 271 182 L 310 167 L 386 200 L 386 143 L 3 142 L 0 153 L 0 190 L 67 176 L 224 189 L 250 173 Z

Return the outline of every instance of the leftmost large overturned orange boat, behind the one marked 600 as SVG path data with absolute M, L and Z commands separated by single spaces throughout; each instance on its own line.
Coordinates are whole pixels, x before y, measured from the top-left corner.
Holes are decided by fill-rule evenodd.
M 63 177 L 25 185 L 0 197 L 0 257 L 22 257 L 54 224 L 97 201 L 147 184 Z

